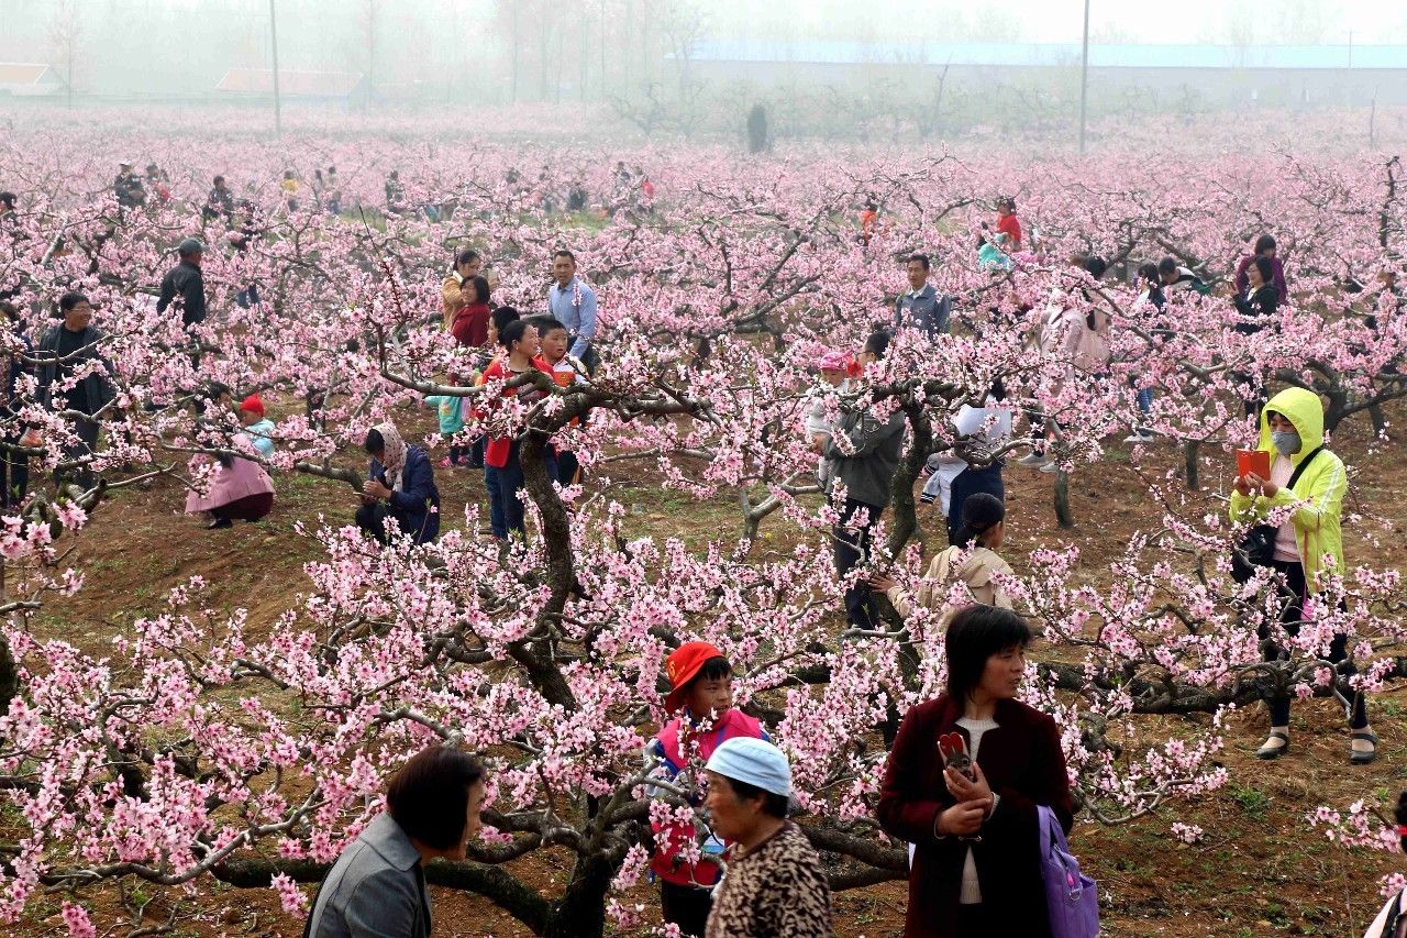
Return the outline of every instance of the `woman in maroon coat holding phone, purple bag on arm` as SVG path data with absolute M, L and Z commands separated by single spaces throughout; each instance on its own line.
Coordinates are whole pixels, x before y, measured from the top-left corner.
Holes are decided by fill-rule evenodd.
M 948 625 L 948 693 L 899 727 L 879 824 L 913 845 L 905 938 L 1050 935 L 1036 806 L 1072 823 L 1059 732 L 1016 700 L 1031 630 L 1003 608 L 968 606 Z M 969 780 L 944 769 L 938 737 L 961 734 Z

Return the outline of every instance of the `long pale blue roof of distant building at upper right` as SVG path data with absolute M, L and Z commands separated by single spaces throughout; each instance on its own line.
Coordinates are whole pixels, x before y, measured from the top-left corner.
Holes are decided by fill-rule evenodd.
M 998 65 L 1079 62 L 1078 42 L 763 42 L 702 39 L 695 62 L 795 62 L 812 65 Z M 1145 69 L 1407 69 L 1401 45 L 1102 45 L 1090 68 Z

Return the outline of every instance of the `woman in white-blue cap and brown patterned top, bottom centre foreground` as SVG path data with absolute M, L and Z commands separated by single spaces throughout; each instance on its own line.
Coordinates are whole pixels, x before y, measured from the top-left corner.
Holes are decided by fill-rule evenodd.
M 713 832 L 733 842 L 706 938 L 829 938 L 826 870 L 802 830 L 787 820 L 787 756 L 763 739 L 733 737 L 704 768 Z

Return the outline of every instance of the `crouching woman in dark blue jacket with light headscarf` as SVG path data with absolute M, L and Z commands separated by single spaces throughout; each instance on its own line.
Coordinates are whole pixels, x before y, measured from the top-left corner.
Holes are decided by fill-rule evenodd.
M 395 424 L 377 424 L 363 446 L 371 455 L 367 480 L 362 483 L 362 507 L 356 524 L 381 544 L 390 544 L 387 520 L 415 544 L 439 537 L 439 489 L 435 469 L 425 451 L 401 439 Z

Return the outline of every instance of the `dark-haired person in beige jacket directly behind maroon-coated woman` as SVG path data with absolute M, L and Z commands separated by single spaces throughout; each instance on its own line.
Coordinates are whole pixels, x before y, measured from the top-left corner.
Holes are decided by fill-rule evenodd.
M 1012 566 L 998 554 L 1006 535 L 1006 507 L 996 496 L 978 492 L 967 497 L 961 514 L 962 527 L 958 530 L 958 539 L 933 558 L 929 572 L 919 584 L 916 599 L 909 599 L 892 576 L 870 577 L 870 586 L 884 593 L 899 615 L 908 618 L 915 606 L 943 607 L 947 604 L 948 587 L 954 580 L 962 580 L 972 592 L 972 599 L 983 606 L 1012 608 L 1012 597 L 998 580 L 992 579 L 993 575 L 1014 576 Z M 958 556 L 968 551 L 971 551 L 968 559 L 955 566 Z

